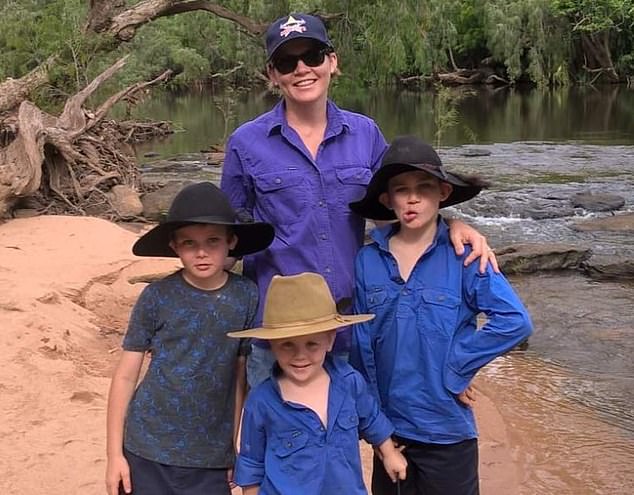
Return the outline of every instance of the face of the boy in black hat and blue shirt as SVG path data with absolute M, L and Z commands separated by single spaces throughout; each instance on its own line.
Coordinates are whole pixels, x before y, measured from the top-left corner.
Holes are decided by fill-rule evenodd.
M 420 170 L 395 175 L 379 201 L 394 210 L 401 229 L 422 229 L 436 221 L 441 201 L 451 194 L 451 184 Z

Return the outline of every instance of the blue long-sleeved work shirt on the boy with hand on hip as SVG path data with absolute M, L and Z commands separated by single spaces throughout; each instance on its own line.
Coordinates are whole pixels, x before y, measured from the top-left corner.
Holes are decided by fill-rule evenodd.
M 451 444 L 476 438 L 471 408 L 458 401 L 485 364 L 532 331 L 526 308 L 491 266 L 463 266 L 439 217 L 429 248 L 407 281 L 389 239 L 398 225 L 372 232 L 356 259 L 355 311 L 375 313 L 353 327 L 350 362 L 365 376 L 396 434 Z M 476 330 L 476 316 L 487 321 Z

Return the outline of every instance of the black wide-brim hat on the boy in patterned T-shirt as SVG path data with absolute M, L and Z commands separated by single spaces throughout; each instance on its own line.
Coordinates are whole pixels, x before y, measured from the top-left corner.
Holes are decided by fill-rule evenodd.
M 224 193 L 211 182 L 185 186 L 174 197 L 167 219 L 146 232 L 132 246 L 137 256 L 178 255 L 169 246 L 172 233 L 192 224 L 227 225 L 238 237 L 229 256 L 240 257 L 266 249 L 273 238 L 273 226 L 264 222 L 241 222 Z

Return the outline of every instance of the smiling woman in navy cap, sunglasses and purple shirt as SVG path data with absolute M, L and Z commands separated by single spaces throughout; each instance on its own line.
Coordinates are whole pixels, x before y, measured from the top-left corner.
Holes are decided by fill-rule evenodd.
M 340 310 L 352 298 L 354 258 L 365 222 L 348 209 L 363 196 L 387 143 L 376 123 L 342 110 L 328 99 L 338 71 L 337 54 L 320 19 L 292 14 L 266 33 L 267 74 L 281 101 L 231 135 L 221 188 L 237 210 L 275 227 L 269 249 L 244 259 L 260 301 L 273 275 L 322 275 Z M 451 239 L 469 262 L 497 268 L 486 239 L 468 225 L 451 222 Z M 262 311 L 260 304 L 260 316 Z M 264 343 L 254 342 L 247 363 L 251 386 L 265 379 L 273 362 Z M 334 351 L 346 354 L 350 332 L 339 332 Z

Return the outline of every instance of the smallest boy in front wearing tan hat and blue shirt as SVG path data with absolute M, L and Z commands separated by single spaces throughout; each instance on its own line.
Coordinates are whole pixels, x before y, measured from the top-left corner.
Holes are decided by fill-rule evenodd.
M 321 275 L 275 276 L 263 326 L 228 334 L 270 341 L 277 360 L 244 409 L 236 482 L 245 495 L 367 494 L 359 434 L 378 446 L 390 479 L 403 479 L 393 427 L 363 377 L 327 355 L 336 328 L 373 317 L 340 315 Z

